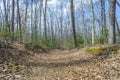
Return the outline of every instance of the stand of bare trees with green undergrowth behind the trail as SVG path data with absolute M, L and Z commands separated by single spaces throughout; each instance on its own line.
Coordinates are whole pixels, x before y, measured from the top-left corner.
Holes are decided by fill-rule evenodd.
M 3 0 L 0 39 L 61 49 L 119 43 L 119 0 L 61 0 L 54 8 L 48 2 Z

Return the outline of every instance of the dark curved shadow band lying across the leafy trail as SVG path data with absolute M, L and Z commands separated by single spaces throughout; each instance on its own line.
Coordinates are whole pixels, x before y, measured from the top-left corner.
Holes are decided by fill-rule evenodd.
M 28 67 L 47 67 L 47 68 L 68 67 L 68 66 L 80 66 L 80 67 L 82 67 L 82 66 L 86 66 L 86 65 L 89 65 L 89 64 L 94 64 L 94 63 L 97 63 L 97 62 L 102 62 L 103 60 L 109 58 L 109 55 L 110 55 L 110 53 L 105 53 L 105 54 L 90 57 L 88 59 L 74 60 L 74 61 L 67 62 L 67 63 L 55 63 L 55 62 L 35 63 L 35 62 L 30 62 L 27 66 Z

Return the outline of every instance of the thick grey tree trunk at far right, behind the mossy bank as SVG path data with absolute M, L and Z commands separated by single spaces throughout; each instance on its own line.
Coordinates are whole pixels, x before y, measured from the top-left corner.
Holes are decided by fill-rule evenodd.
M 116 0 L 109 1 L 109 44 L 116 43 L 115 35 L 115 11 L 116 11 Z

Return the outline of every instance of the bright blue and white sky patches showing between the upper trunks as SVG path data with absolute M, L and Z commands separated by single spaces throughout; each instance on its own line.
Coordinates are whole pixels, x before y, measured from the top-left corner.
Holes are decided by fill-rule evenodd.
M 1 6 L 1 9 L 4 9 L 2 1 L 3 0 L 0 0 L 0 6 Z M 12 1 L 12 0 L 10 0 L 10 1 Z M 30 1 L 30 0 L 28 0 L 28 1 Z M 40 5 L 39 1 L 40 0 L 36 0 L 36 3 L 34 5 L 39 6 Z M 83 1 L 85 1 L 84 2 L 85 6 L 89 6 L 89 1 L 90 0 L 83 0 Z M 96 7 L 96 4 L 97 5 L 100 4 L 99 1 L 100 0 L 94 0 L 94 4 L 95 4 L 94 11 L 95 11 L 95 16 L 96 16 L 97 19 L 100 16 L 100 11 L 99 11 L 100 9 L 98 9 Z M 120 0 L 118 0 L 118 2 L 120 2 Z M 11 2 L 10 2 L 10 4 L 11 4 Z M 20 0 L 20 5 L 22 5 L 22 6 L 20 6 L 20 7 L 22 7 L 21 9 L 25 10 L 25 2 L 24 2 L 24 0 Z M 70 8 L 70 3 L 69 3 L 69 0 L 48 0 L 48 8 L 51 9 L 52 12 L 54 12 L 56 15 L 59 15 L 61 5 L 63 5 L 64 20 L 66 20 L 68 18 L 70 19 L 70 9 L 69 9 Z M 81 27 L 80 24 L 81 24 L 82 20 L 81 20 L 81 10 L 80 10 L 80 0 L 74 0 L 74 5 L 75 5 L 75 17 L 76 17 L 76 20 L 78 20 L 78 22 L 76 21 L 76 23 L 79 23 L 79 26 Z M 108 0 L 105 0 L 105 5 L 106 5 L 106 14 L 107 14 L 106 15 L 107 16 L 107 25 L 109 27 L 109 23 L 108 23 L 108 19 L 109 19 L 109 13 L 108 13 L 109 12 L 109 10 L 108 10 L 108 6 L 109 5 L 108 5 Z M 116 16 L 117 16 L 118 21 L 120 22 L 120 18 L 119 18 L 120 17 L 120 10 L 119 10 L 120 7 L 118 7 L 116 5 L 116 8 L 117 8 L 116 9 Z M 29 13 L 29 11 L 31 11 L 30 9 L 31 9 L 31 7 L 29 7 L 29 9 L 28 9 L 28 15 L 31 14 L 31 13 Z M 23 16 L 25 12 L 23 11 L 21 13 L 22 13 L 22 16 Z M 50 13 L 50 14 L 53 14 L 53 13 Z M 80 17 L 78 17 L 78 16 L 80 16 Z M 86 12 L 85 12 L 85 18 L 86 18 L 86 20 L 91 19 L 91 13 L 90 13 L 90 11 L 86 10 Z M 54 14 L 53 14 L 53 19 L 54 19 Z M 30 20 L 28 20 L 28 25 L 30 25 L 30 23 L 31 23 Z M 90 26 L 90 23 L 88 21 L 87 21 L 87 25 Z M 98 23 L 95 23 L 95 26 L 98 27 Z

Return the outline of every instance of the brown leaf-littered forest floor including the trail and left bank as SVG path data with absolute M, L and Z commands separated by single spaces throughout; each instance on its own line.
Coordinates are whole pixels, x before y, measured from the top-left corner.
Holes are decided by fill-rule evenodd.
M 33 54 L 23 47 L 0 42 L 0 80 L 120 80 L 119 51 L 92 55 L 84 49 L 55 49 Z

